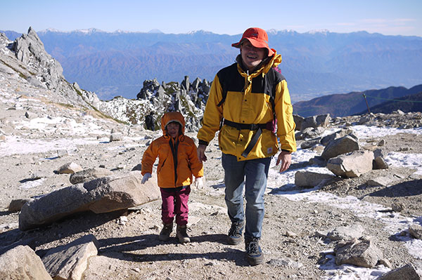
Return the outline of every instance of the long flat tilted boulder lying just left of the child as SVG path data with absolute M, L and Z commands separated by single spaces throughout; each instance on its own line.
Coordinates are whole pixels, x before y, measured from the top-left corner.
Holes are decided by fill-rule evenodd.
M 142 185 L 141 180 L 141 172 L 132 171 L 58 189 L 27 202 L 20 211 L 19 228 L 49 225 L 78 212 L 108 213 L 159 199 L 156 181 Z

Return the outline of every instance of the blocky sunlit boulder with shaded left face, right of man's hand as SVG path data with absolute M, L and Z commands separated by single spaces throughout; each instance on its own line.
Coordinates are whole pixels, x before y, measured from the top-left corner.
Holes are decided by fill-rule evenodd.
M 354 151 L 343 154 L 327 162 L 327 168 L 335 175 L 356 178 L 372 170 L 373 152 Z

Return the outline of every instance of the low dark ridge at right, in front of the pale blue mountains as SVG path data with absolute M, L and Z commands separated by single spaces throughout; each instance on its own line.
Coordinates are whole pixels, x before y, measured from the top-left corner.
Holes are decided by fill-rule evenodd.
M 390 86 L 380 90 L 324 95 L 296 102 L 293 105 L 293 114 L 351 116 L 368 112 L 390 114 L 397 109 L 404 112 L 422 112 L 422 84 L 409 89 Z

